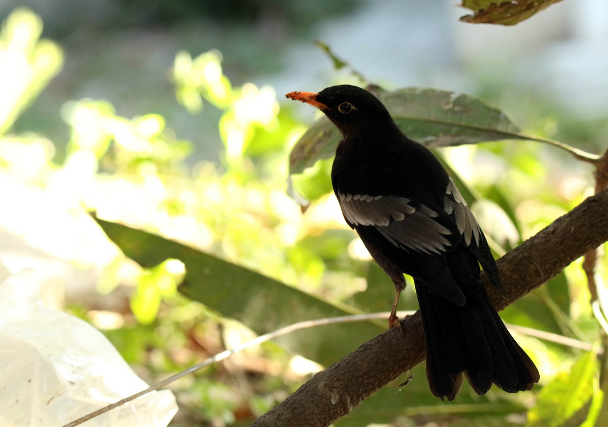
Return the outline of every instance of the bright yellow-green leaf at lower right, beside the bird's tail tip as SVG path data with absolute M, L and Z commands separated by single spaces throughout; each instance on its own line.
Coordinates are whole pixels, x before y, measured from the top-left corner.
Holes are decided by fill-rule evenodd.
M 551 383 L 542 388 L 536 406 L 528 412 L 526 426 L 558 427 L 568 422 L 590 403 L 596 389 L 597 370 L 596 354 L 588 352 L 570 370 L 558 373 Z M 597 412 L 596 406 L 591 406 L 594 413 Z

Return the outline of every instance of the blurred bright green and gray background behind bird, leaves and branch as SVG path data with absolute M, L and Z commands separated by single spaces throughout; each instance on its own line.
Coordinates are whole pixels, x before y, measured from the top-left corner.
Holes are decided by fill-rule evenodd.
M 2 264 L 12 273 L 33 268 L 47 304 L 102 330 L 148 382 L 250 339 L 258 325 L 179 294 L 185 270 L 178 260 L 141 268 L 127 259 L 92 210 L 288 290 L 353 310 L 386 310 L 392 285 L 345 226 L 330 193 L 330 163 L 288 179 L 289 151 L 317 113 L 283 94 L 338 83 L 466 92 L 525 133 L 606 150 L 608 4 L 562 1 L 503 27 L 458 21 L 468 11 L 455 3 L 3 1 Z M 536 142 L 465 145 L 440 155 L 470 187 L 469 203 L 496 255 L 595 186 L 589 164 Z M 305 212 L 294 200 L 302 196 Z M 607 266 L 601 252 L 600 283 Z M 412 292 L 403 308 L 416 308 Z M 281 311 L 278 300 L 258 305 Z M 581 260 L 502 314 L 581 342 L 601 337 Z M 350 350 L 365 341 L 353 338 Z M 601 417 L 589 409 L 601 391 L 595 358 L 517 339 L 541 370 L 533 392 L 477 397 L 465 389 L 460 401 L 444 404 L 430 398 L 418 367 L 413 383 L 387 387 L 337 425 L 549 425 L 556 414 L 593 425 Z M 304 358 L 295 348 L 269 342 L 173 384 L 181 409 L 172 425 L 247 425 L 349 351 L 316 349 Z M 581 370 L 584 390 L 565 403 L 568 378 Z

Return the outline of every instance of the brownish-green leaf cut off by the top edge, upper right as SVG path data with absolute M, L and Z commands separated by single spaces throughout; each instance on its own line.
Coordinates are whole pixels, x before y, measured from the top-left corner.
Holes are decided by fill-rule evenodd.
M 474 10 L 461 21 L 474 24 L 515 25 L 561 0 L 463 0 L 462 6 Z

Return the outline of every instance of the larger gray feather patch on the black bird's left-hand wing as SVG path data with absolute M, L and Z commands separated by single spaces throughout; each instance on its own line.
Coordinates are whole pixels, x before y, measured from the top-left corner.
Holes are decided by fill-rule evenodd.
M 342 213 L 353 226 L 375 226 L 393 245 L 427 254 L 441 254 L 451 246 L 452 232 L 434 220 L 438 212 L 399 196 L 338 193 Z

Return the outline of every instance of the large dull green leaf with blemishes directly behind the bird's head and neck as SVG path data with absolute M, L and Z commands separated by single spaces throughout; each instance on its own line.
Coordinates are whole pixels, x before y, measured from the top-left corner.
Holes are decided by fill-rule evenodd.
M 404 133 L 427 147 L 503 139 L 527 139 L 505 113 L 471 95 L 438 89 L 372 88 Z M 289 172 L 301 173 L 334 155 L 340 133 L 325 117 L 317 120 L 291 151 Z

